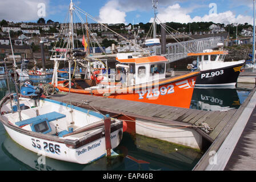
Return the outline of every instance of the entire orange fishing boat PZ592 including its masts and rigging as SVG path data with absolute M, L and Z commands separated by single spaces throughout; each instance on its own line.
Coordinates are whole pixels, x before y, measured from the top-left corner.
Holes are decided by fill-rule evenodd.
M 50 60 L 55 62 L 51 84 L 55 88 L 63 92 L 90 94 L 167 106 L 190 107 L 195 81 L 200 72 L 195 71 L 183 76 L 166 77 L 168 60 L 165 57 L 151 55 L 150 51 L 138 46 L 136 41 L 130 41 L 117 34 L 117 32 L 115 34 L 134 44 L 135 52 L 117 53 L 117 64 L 109 72 L 107 61 L 104 63 L 103 60 L 99 60 L 95 56 L 86 55 L 86 48 L 89 44 L 86 43 L 85 39 L 83 40 L 83 51 L 75 49 L 73 11 L 76 8 L 77 6 L 74 6 L 71 2 L 69 9 L 70 32 L 66 40 L 63 41 L 67 43 L 66 46 L 63 43 L 61 48 L 54 47 L 51 55 Z M 74 12 L 77 13 L 77 11 Z M 81 9 L 79 9 L 79 12 L 84 13 L 87 17 L 87 13 L 81 11 Z M 78 17 L 81 18 L 79 15 Z M 82 20 L 82 22 L 84 21 Z M 87 27 L 85 23 L 83 24 Z M 102 24 L 102 26 L 105 25 Z M 108 27 L 106 28 L 109 29 Z M 113 30 L 110 31 L 114 32 Z M 154 26 L 154 36 L 155 34 Z M 100 44 L 98 46 L 102 52 L 105 52 Z M 141 52 L 138 52 L 137 49 L 141 49 Z M 71 76 L 70 71 L 69 79 L 58 81 L 58 61 L 69 61 L 69 71 L 71 70 L 72 61 L 75 63 L 75 67 L 77 64 L 81 65 L 85 68 L 85 78 L 73 78 L 75 72 Z

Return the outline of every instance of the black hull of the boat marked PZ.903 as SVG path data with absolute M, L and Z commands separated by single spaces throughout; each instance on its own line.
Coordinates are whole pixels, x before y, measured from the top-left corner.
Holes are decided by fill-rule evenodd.
M 229 67 L 201 71 L 195 86 L 234 86 L 241 72 L 243 63 Z

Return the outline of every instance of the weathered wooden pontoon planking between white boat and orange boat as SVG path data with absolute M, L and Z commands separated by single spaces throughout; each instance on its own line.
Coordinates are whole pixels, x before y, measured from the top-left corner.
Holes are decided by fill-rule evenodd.
M 69 103 L 70 96 L 50 96 L 50 98 Z M 221 122 L 221 119 L 225 117 L 225 114 L 220 115 L 219 111 L 185 109 L 181 107 L 149 104 L 145 102 L 119 100 L 114 98 L 105 98 L 75 93 L 71 93 L 71 100 L 73 101 L 72 103 L 74 105 L 79 105 L 83 101 L 89 101 L 89 105 L 83 104 L 80 106 L 93 109 L 90 107 L 91 105 L 95 109 L 105 111 L 107 113 L 125 114 L 130 117 L 137 117 L 163 123 L 179 123 L 180 125 L 185 123 L 186 125 L 198 126 L 199 123 L 206 122 L 210 124 L 210 127 L 212 127 L 217 126 Z M 218 132 L 215 132 L 214 134 L 218 134 Z M 205 135 L 205 137 L 209 137 L 207 134 L 203 135 Z

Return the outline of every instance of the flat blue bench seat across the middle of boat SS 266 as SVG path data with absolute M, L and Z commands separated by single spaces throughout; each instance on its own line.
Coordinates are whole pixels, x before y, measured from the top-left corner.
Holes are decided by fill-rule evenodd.
M 57 119 L 65 118 L 65 117 L 66 117 L 65 114 L 61 114 L 61 113 L 57 113 L 57 112 L 53 111 L 51 113 L 38 115 L 37 117 L 34 117 L 34 118 L 29 118 L 29 119 L 25 119 L 23 121 L 15 122 L 15 125 L 21 127 L 21 126 L 25 126 L 25 125 L 30 125 L 31 123 L 39 123 L 41 121 L 51 122 L 51 121 L 55 121 Z

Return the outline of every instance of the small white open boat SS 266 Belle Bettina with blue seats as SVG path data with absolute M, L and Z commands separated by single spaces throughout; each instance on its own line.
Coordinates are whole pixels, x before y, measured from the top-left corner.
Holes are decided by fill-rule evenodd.
M 122 139 L 122 121 L 47 98 L 8 94 L 0 109 L 0 121 L 15 142 L 53 159 L 91 163 Z

